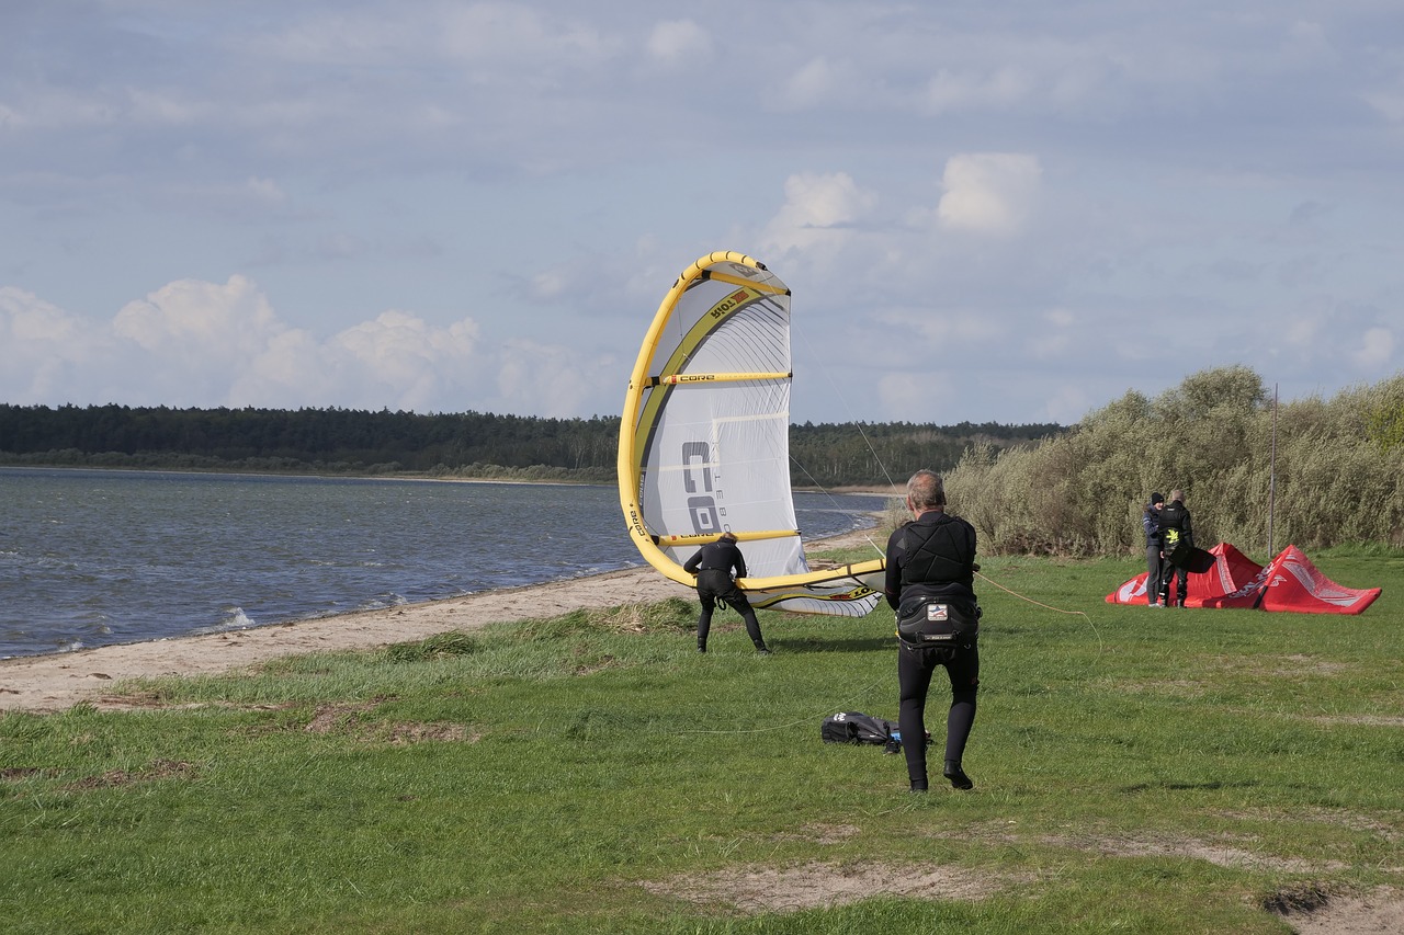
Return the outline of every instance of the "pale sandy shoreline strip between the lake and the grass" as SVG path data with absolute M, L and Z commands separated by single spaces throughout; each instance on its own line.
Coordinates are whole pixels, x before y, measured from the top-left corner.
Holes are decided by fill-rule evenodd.
M 880 522 L 880 517 L 878 519 Z M 876 526 L 868 526 L 806 545 L 810 549 L 855 548 L 868 543 L 875 533 Z M 376 649 L 448 630 L 556 616 L 580 608 L 651 604 L 670 597 L 691 601 L 696 599 L 696 592 L 665 578 L 651 566 L 643 566 L 441 601 L 268 623 L 247 630 L 22 656 L 0 660 L 0 712 L 52 713 L 83 702 L 100 710 L 124 710 L 133 705 L 107 696 L 105 689 L 128 678 L 229 672 L 282 656 Z

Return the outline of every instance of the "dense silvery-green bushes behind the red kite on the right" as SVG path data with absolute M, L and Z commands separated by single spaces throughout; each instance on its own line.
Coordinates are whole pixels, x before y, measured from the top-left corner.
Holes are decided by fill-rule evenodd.
M 1153 490 L 1185 491 L 1200 546 L 1404 546 L 1404 376 L 1273 411 L 1245 366 L 1130 392 L 1036 446 L 974 446 L 946 476 L 991 555 L 1127 555 Z

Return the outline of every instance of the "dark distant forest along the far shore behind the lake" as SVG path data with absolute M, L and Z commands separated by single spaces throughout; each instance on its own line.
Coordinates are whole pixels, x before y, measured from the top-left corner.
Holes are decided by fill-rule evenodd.
M 790 427 L 790 479 L 796 487 L 886 487 L 917 468 L 949 470 L 973 445 L 1002 451 L 1063 431 L 804 423 Z M 11 466 L 614 483 L 618 444 L 618 416 L 0 404 L 0 465 Z

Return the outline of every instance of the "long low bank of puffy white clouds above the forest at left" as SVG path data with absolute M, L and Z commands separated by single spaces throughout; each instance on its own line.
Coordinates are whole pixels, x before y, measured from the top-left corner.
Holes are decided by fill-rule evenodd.
M 0 396 L 45 404 L 462 411 L 491 393 L 496 375 L 473 319 L 435 326 L 389 310 L 322 340 L 288 327 L 240 275 L 171 282 L 107 327 L 3 288 L 0 337 Z M 578 380 L 567 385 L 563 393 L 580 392 Z

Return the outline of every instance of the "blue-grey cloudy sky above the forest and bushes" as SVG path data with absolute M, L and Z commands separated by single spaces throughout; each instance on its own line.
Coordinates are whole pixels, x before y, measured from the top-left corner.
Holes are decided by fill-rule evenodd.
M 0 403 L 615 416 L 698 257 L 795 423 L 1404 369 L 1397 0 L 3 0 Z

